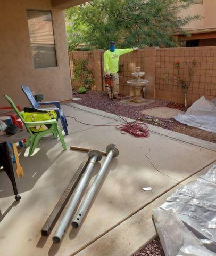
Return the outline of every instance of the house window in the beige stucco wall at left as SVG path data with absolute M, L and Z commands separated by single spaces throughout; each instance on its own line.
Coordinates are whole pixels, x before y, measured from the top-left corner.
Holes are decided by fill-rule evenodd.
M 51 12 L 27 10 L 27 19 L 35 68 L 56 67 L 57 60 Z

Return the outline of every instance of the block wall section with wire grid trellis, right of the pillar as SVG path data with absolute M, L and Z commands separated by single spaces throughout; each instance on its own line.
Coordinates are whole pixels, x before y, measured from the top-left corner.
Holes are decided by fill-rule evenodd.
M 188 105 L 202 95 L 212 100 L 216 97 L 216 47 L 184 47 L 156 49 L 155 98 L 184 103 L 184 89 L 162 77 L 173 77 L 177 72 L 174 62 L 179 60 L 179 73 L 188 80 L 188 68 L 197 62 L 192 83 L 188 89 Z

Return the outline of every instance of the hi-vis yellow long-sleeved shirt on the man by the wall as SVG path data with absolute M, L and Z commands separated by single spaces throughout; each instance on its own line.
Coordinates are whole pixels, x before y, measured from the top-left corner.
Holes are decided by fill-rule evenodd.
M 114 52 L 107 50 L 104 52 L 104 71 L 110 73 L 117 73 L 119 71 L 119 57 L 125 53 L 132 52 L 132 48 L 115 49 Z

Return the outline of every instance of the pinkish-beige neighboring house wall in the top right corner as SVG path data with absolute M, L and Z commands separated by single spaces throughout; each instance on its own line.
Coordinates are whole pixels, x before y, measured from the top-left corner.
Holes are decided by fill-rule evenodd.
M 216 28 L 215 19 L 216 1 L 204 0 L 203 4 L 193 4 L 188 10 L 184 10 L 181 15 L 201 15 L 201 20 L 190 22 L 184 28 L 187 30 Z

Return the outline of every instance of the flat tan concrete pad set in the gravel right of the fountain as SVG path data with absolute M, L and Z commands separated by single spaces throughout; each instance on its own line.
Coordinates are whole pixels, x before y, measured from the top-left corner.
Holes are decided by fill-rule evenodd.
M 184 114 L 185 112 L 175 108 L 155 107 L 155 108 L 149 108 L 149 109 L 140 111 L 139 113 L 148 115 L 148 116 L 168 119 L 168 118 L 173 118 L 173 116 L 176 116 L 178 113 Z

